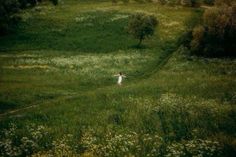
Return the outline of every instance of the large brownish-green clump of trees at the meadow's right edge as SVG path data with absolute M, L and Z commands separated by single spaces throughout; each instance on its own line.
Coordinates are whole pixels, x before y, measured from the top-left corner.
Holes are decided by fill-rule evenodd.
M 216 0 L 182 42 L 193 55 L 236 57 L 236 0 Z

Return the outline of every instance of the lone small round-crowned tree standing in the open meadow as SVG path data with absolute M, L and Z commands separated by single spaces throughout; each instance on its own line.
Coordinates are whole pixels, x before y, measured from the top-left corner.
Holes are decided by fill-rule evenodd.
M 127 30 L 129 34 L 139 40 L 138 46 L 140 46 L 144 39 L 154 34 L 157 25 L 158 20 L 155 16 L 137 13 L 131 16 Z

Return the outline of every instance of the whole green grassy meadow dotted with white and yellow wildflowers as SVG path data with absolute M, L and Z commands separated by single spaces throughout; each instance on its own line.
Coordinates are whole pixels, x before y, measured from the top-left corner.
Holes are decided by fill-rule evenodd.
M 0 156 L 234 157 L 236 60 L 178 44 L 202 11 L 76 0 L 22 11 L 0 37 Z M 159 21 L 141 48 L 125 31 L 136 12 Z

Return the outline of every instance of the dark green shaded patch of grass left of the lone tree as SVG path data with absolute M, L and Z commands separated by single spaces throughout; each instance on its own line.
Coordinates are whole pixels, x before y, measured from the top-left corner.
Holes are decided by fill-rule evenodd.
M 127 50 L 136 43 L 124 29 L 127 22 L 128 18 L 122 18 L 122 13 L 116 11 L 87 12 L 64 24 L 56 19 L 36 17 L 22 22 L 15 34 L 1 37 L 0 50 L 40 49 L 94 53 Z

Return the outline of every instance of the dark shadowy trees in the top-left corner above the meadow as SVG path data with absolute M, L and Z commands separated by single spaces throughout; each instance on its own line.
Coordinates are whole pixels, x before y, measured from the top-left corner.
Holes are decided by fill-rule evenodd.
M 21 20 L 18 13 L 22 9 L 34 7 L 47 0 L 0 0 L 0 35 L 5 35 L 14 30 L 17 23 Z M 54 5 L 58 0 L 48 0 Z

